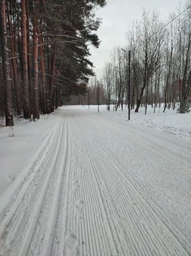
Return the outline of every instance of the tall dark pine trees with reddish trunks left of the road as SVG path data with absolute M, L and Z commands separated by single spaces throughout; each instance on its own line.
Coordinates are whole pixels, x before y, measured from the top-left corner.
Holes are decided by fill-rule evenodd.
M 0 116 L 30 121 L 85 95 L 105 0 L 0 0 Z

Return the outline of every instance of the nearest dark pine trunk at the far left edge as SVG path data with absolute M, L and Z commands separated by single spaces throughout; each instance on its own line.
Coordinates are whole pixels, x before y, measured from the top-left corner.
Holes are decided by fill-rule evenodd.
M 4 78 L 5 94 L 5 124 L 13 126 L 12 98 L 11 98 L 11 78 L 9 69 L 9 49 L 7 43 L 7 28 L 5 15 L 5 0 L 0 0 L 0 36 L 2 48 L 2 66 Z

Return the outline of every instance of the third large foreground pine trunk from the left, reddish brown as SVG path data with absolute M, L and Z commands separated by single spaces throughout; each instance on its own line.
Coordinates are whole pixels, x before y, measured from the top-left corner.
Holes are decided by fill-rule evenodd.
M 36 1 L 33 7 L 33 121 L 40 118 L 38 104 L 38 35 L 37 35 L 37 18 L 36 18 Z

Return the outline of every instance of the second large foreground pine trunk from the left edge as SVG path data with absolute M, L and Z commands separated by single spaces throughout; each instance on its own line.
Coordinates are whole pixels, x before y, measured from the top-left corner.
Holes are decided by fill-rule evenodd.
M 22 54 L 22 99 L 24 118 L 31 120 L 31 108 L 29 100 L 28 67 L 27 67 L 27 40 L 26 40 L 26 5 L 25 0 L 21 4 L 21 54 Z

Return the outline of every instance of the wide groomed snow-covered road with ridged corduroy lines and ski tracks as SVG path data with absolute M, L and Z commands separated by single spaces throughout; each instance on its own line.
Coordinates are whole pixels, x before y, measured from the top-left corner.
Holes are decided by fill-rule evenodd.
M 190 139 L 63 107 L 29 173 L 1 256 L 191 255 Z

